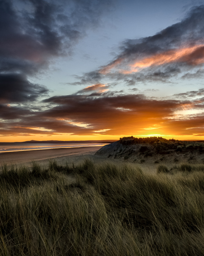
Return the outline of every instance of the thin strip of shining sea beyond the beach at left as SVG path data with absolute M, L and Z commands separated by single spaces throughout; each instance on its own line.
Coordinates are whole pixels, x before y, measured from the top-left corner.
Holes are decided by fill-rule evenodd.
M 54 148 L 99 147 L 108 143 L 0 143 L 0 153 Z

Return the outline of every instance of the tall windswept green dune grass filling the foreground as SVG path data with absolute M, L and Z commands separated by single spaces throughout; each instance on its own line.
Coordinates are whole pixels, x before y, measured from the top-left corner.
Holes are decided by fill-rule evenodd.
M 204 168 L 179 168 L 3 166 L 0 255 L 202 256 Z

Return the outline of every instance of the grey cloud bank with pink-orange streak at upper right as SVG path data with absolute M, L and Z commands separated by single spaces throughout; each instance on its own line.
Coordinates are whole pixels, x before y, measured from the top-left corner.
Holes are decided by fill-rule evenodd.
M 204 64 L 204 5 L 195 6 L 178 23 L 156 35 L 137 40 L 127 39 L 120 54 L 109 64 L 86 73 L 81 83 L 100 83 L 108 78 L 138 82 L 171 82 L 173 77 L 198 78 Z M 80 83 L 80 82 L 79 82 Z

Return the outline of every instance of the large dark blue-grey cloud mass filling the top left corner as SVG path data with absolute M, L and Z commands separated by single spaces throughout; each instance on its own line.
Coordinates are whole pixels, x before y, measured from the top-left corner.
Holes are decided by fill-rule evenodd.
M 70 54 L 111 1 L 0 0 L 0 71 L 31 74 Z

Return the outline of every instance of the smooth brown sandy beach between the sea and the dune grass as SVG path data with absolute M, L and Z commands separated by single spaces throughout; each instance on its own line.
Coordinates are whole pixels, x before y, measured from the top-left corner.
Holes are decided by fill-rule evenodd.
M 0 166 L 7 164 L 8 166 L 14 164 L 16 166 L 32 166 L 32 162 L 37 162 L 40 166 L 47 168 L 49 160 L 56 160 L 59 165 L 65 166 L 66 164 L 72 166 L 82 163 L 85 158 L 91 158 L 94 163 L 112 162 L 122 164 L 126 161 L 111 159 L 105 156 L 95 155 L 101 146 L 96 147 L 80 147 L 80 148 L 55 148 L 55 149 L 42 149 L 30 151 L 17 151 L 17 152 L 3 152 L 0 153 Z M 138 166 L 144 172 L 156 173 L 157 164 L 140 164 L 128 163 L 133 166 Z M 1 169 L 1 168 L 0 168 Z

